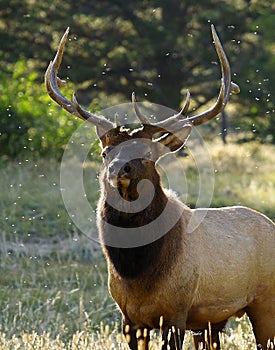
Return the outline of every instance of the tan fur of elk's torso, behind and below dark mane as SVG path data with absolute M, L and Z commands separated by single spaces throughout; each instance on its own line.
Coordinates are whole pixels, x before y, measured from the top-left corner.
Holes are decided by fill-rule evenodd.
M 169 200 L 175 201 L 175 210 L 182 205 Z M 207 329 L 208 322 L 224 325 L 229 317 L 246 311 L 256 338 L 265 346 L 275 336 L 274 223 L 248 208 L 210 209 L 202 224 L 189 233 L 188 219 L 196 214 L 185 208 L 182 238 L 177 241 L 180 249 L 174 251 L 178 257 L 162 280 L 122 279 L 107 255 L 110 292 L 125 323 L 134 329 L 158 328 L 163 316 L 167 328 L 201 330 Z M 177 240 L 179 232 L 173 233 Z M 154 288 L 146 292 L 148 283 Z M 266 328 L 269 332 L 261 336 Z

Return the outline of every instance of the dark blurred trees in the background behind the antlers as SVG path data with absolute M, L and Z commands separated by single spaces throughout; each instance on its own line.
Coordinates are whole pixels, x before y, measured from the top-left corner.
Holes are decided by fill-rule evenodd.
M 220 83 L 210 34 L 214 23 L 241 87 L 241 95 L 231 99 L 234 115 L 228 111 L 233 127 L 249 138 L 275 142 L 274 16 L 271 0 L 2 0 L 0 69 L 8 77 L 7 67 L 12 71 L 16 62 L 27 62 L 25 74 L 35 72 L 33 84 L 41 89 L 44 70 L 69 25 L 71 42 L 60 75 L 70 77 L 81 103 L 106 107 L 129 101 L 135 91 L 138 100 L 178 109 L 189 88 L 192 107 L 199 108 L 216 97 Z M 6 97 L 0 98 L 0 144 L 10 133 L 7 121 L 21 118 L 17 109 L 12 121 L 7 119 L 8 106 L 15 110 L 14 96 L 6 88 L 1 94 Z M 40 108 L 41 101 L 30 103 Z M 50 123 L 45 114 L 40 118 Z M 30 114 L 24 130 L 32 123 Z

